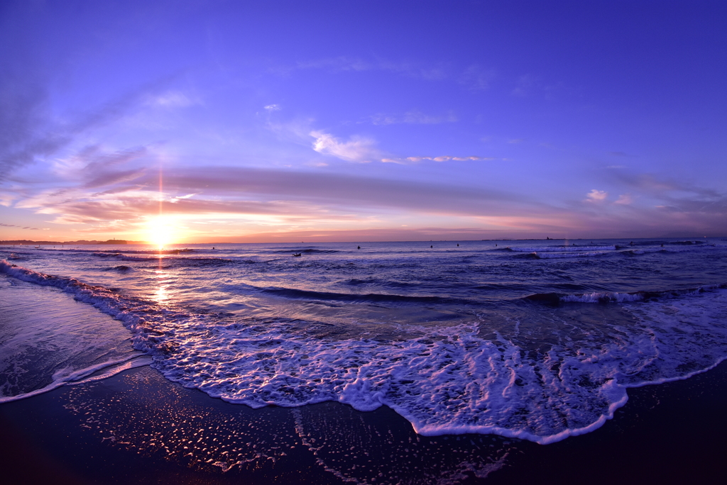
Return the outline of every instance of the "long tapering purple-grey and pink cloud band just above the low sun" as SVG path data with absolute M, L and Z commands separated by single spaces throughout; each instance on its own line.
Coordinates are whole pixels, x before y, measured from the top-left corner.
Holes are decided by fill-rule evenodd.
M 89 192 L 82 185 L 49 189 L 25 197 L 16 207 L 53 214 L 57 224 L 116 228 L 121 222 L 128 227 L 140 224 L 158 213 L 160 204 L 165 213 L 190 217 L 257 214 L 278 221 L 360 221 L 366 213 L 380 211 L 470 217 L 547 211 L 544 205 L 495 189 L 321 171 L 178 167 L 164 174 L 164 192 L 158 192 L 158 182 L 158 173 L 147 171 L 134 185 L 117 184 L 104 192 Z

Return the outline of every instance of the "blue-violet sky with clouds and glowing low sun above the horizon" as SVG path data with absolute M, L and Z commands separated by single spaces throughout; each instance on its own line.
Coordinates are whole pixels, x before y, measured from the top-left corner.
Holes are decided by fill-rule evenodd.
M 0 240 L 727 235 L 727 2 L 0 3 Z

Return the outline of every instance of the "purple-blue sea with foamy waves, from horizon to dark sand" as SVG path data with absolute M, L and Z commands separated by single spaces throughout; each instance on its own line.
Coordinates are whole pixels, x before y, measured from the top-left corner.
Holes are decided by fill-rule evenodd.
M 0 330 L 0 402 L 148 364 L 545 444 L 727 357 L 727 241 L 0 246 Z

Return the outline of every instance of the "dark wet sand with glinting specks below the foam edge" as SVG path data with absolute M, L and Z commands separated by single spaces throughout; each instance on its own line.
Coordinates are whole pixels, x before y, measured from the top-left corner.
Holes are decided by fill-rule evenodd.
M 726 479 L 727 362 L 688 380 L 631 389 L 629 396 L 601 429 L 543 446 L 497 436 L 417 436 L 385 407 L 357 412 L 322 403 L 255 410 L 140 367 L 1 404 L 1 476 L 7 484 Z

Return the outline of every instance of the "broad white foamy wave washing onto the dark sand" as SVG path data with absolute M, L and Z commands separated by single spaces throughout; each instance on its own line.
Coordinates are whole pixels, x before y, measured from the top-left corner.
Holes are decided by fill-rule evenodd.
M 475 317 L 460 325 L 407 325 L 406 338 L 386 342 L 329 340 L 308 332 L 314 322 L 254 317 L 228 322 L 7 261 L 0 261 L 0 272 L 62 288 L 121 320 L 134 348 L 152 357 L 152 367 L 185 387 L 254 408 L 338 401 L 368 411 L 386 405 L 429 436 L 494 433 L 553 443 L 603 425 L 627 401 L 628 387 L 686 378 L 727 355 L 727 285 L 657 292 L 678 293 L 679 304 L 646 301 L 651 293 L 622 293 L 638 294 L 643 304 L 622 306 L 632 315 L 627 327 L 603 330 L 608 336 L 615 328 L 618 338 L 595 339 L 582 329 L 586 337 L 554 339 L 547 351 L 532 352 L 497 332 L 483 337 L 493 330 Z M 266 290 L 302 298 L 359 297 Z M 590 302 L 604 294 L 571 297 Z M 528 298 L 552 300 L 556 294 L 547 295 Z M 563 297 L 568 296 L 558 295 L 558 301 Z M 432 301 L 414 301 L 422 303 L 420 298 Z M 556 308 L 538 310 L 529 318 L 544 319 L 531 326 L 559 318 Z

